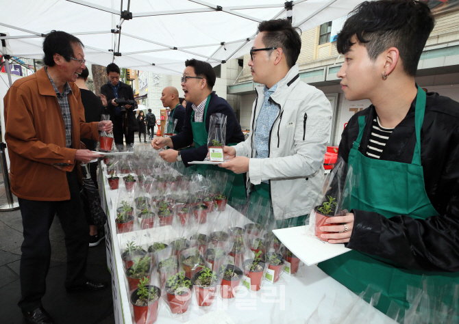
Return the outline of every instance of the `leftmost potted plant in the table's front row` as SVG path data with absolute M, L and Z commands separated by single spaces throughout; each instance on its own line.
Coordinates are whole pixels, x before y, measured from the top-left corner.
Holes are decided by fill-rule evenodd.
M 161 290 L 157 286 L 149 286 L 149 279 L 144 277 L 138 288 L 131 294 L 135 323 L 153 324 L 158 319 L 158 302 Z

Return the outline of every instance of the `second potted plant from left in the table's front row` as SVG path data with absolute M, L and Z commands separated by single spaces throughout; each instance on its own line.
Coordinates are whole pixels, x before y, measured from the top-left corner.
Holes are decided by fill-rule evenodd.
M 193 283 L 183 272 L 175 273 L 166 282 L 167 304 L 172 314 L 183 314 L 188 310 Z

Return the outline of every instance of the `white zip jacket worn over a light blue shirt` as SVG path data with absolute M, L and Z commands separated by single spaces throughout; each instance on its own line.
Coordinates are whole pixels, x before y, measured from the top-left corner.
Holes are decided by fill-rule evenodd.
M 263 104 L 264 85 L 256 87 L 249 137 L 234 146 L 236 156 L 254 158 L 254 130 Z M 332 124 L 332 107 L 325 94 L 299 79 L 295 64 L 271 95 L 280 107 L 269 135 L 269 158 L 250 159 L 247 188 L 269 180 L 276 219 L 310 213 L 324 178 L 323 159 Z

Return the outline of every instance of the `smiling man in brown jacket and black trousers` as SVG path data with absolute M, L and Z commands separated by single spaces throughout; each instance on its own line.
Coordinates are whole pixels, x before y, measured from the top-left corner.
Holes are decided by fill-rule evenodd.
M 112 122 L 84 120 L 79 88 L 73 83 L 84 66 L 82 42 L 52 31 L 43 42 L 45 68 L 20 79 L 4 98 L 5 140 L 10 155 L 11 189 L 23 219 L 21 308 L 27 323 L 53 323 L 42 308 L 51 259 L 49 228 L 58 214 L 65 234 L 69 291 L 95 291 L 105 285 L 84 275 L 89 231 L 82 211 L 76 163 L 102 157 L 80 149 L 79 139 L 97 140 Z

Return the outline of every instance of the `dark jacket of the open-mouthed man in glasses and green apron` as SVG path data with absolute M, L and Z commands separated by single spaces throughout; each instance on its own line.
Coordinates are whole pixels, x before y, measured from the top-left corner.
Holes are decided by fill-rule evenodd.
M 186 115 L 182 132 L 171 137 L 175 149 L 185 148 L 193 143 L 193 130 L 191 129 L 191 113 L 193 108 L 192 103 L 186 104 Z M 206 131 L 209 131 L 210 116 L 212 113 L 223 113 L 226 118 L 226 143 L 240 143 L 244 141 L 243 131 L 240 129 L 240 124 L 236 120 L 234 110 L 223 98 L 220 98 L 214 92 L 210 96 L 210 102 L 206 115 Z M 175 117 L 175 116 L 174 116 Z M 199 146 L 199 148 L 190 148 L 189 150 L 182 150 L 180 155 L 185 166 L 188 167 L 188 162 L 203 161 L 206 159 L 208 153 L 207 145 Z

